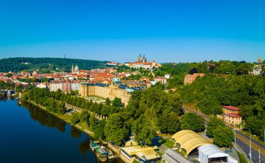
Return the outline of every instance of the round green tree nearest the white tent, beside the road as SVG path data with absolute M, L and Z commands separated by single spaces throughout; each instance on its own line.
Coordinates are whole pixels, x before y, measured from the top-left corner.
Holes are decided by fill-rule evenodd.
M 218 126 L 213 130 L 213 143 L 219 147 L 232 146 L 234 141 L 234 133 L 230 127 Z

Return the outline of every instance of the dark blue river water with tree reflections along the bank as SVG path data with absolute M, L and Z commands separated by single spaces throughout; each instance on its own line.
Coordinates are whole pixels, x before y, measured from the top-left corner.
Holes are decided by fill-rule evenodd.
M 32 104 L 0 100 L 0 162 L 100 162 L 90 139 Z

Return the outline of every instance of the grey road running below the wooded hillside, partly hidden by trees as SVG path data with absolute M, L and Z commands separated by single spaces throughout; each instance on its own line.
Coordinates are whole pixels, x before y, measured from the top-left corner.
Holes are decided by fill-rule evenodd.
M 198 114 L 198 111 L 196 109 L 183 107 L 184 111 L 189 111 L 195 114 Z M 199 112 L 199 116 L 204 117 L 205 121 L 208 122 L 210 120 L 209 116 L 206 116 L 205 114 L 202 114 Z M 230 125 L 226 124 L 227 127 L 231 127 Z M 232 128 L 234 130 L 234 128 Z M 262 143 L 259 143 L 255 139 L 251 138 L 251 159 L 252 162 L 259 162 L 259 150 L 260 150 L 260 157 L 261 162 L 265 163 L 265 146 Z M 236 130 L 236 146 L 239 146 L 245 153 L 245 155 L 248 155 L 250 153 L 250 137 L 248 135 L 243 134 L 239 130 Z

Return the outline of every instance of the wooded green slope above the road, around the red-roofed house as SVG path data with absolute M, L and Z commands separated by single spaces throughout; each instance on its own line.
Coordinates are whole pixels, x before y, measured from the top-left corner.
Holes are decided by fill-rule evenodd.
M 224 105 L 240 107 L 244 130 L 264 140 L 265 76 L 207 75 L 183 86 L 179 93 L 185 102 L 197 105 L 204 114 L 222 114 Z

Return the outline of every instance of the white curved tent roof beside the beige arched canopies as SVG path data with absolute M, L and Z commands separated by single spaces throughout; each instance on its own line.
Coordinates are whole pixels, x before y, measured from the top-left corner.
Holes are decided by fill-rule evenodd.
M 228 157 L 226 153 L 220 150 L 218 147 L 214 145 L 204 145 L 198 148 L 200 152 L 206 155 L 208 158 L 215 158 L 215 157 Z

